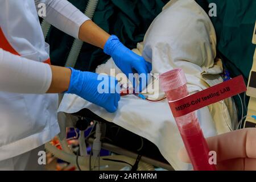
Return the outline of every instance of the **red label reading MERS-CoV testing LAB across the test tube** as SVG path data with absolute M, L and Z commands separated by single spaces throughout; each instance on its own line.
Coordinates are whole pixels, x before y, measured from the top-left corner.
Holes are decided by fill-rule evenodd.
M 181 117 L 225 98 L 236 96 L 247 90 L 242 76 L 214 85 L 201 92 L 170 102 L 174 117 Z

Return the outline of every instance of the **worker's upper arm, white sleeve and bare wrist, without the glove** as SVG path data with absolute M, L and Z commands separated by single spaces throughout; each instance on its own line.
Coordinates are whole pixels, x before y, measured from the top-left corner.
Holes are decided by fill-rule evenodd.
M 53 26 L 86 43 L 104 48 L 110 35 L 71 3 L 66 0 L 35 0 L 36 7 L 40 2 L 46 3 L 45 19 Z

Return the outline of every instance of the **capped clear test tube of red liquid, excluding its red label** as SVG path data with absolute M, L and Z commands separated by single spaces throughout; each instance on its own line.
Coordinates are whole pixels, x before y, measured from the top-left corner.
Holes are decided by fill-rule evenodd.
M 182 69 L 174 69 L 159 76 L 160 85 L 166 93 L 169 105 L 172 101 L 188 96 L 187 79 Z M 209 163 L 209 148 L 201 130 L 196 111 L 175 118 L 181 138 L 195 171 L 214 171 Z

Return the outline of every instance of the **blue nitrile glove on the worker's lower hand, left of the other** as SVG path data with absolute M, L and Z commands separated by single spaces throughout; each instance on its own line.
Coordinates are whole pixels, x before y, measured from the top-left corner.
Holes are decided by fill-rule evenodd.
M 110 113 L 117 110 L 120 87 L 115 77 L 69 69 L 72 71 L 71 80 L 65 93 L 76 94 L 86 101 L 104 107 Z

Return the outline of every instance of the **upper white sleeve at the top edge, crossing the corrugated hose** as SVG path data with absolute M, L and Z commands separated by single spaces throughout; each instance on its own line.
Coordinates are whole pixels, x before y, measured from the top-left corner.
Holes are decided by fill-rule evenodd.
M 35 0 L 36 8 L 40 3 L 46 5 L 46 17 L 48 23 L 74 38 L 79 37 L 79 28 L 82 23 L 89 20 L 79 9 L 67 0 Z

